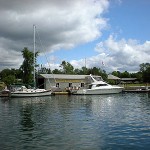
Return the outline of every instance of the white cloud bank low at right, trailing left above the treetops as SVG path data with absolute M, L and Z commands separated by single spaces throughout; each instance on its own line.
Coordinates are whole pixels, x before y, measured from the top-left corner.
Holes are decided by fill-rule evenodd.
M 87 58 L 87 67 L 100 67 L 111 71 L 139 71 L 141 63 L 150 62 L 150 41 L 141 44 L 137 40 L 117 40 L 112 35 L 96 45 L 96 56 Z M 104 65 L 102 65 L 104 62 Z M 85 60 L 72 60 L 76 68 L 85 66 Z

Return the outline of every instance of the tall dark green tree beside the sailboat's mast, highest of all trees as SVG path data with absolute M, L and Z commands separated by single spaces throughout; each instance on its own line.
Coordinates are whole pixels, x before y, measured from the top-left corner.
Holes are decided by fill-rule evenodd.
M 33 83 L 33 71 L 34 71 L 34 54 L 29 51 L 27 47 L 22 50 L 22 56 L 24 61 L 20 67 L 23 74 L 23 83 L 31 84 Z M 38 52 L 35 53 L 35 59 L 38 56 Z M 36 62 L 36 60 L 35 60 Z

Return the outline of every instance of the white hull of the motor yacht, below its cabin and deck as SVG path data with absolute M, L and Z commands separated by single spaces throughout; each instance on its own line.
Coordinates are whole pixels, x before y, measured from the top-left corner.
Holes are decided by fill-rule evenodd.
M 76 93 L 77 95 L 103 95 L 103 94 L 117 94 L 121 93 L 123 88 L 110 88 L 110 89 L 81 89 Z

